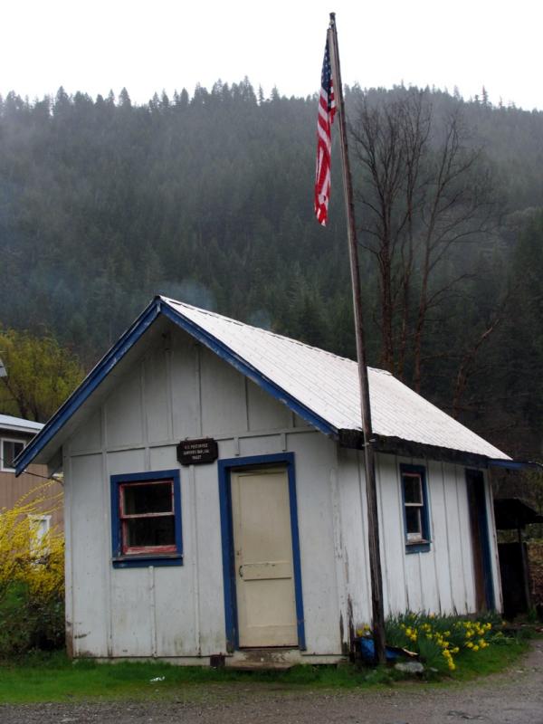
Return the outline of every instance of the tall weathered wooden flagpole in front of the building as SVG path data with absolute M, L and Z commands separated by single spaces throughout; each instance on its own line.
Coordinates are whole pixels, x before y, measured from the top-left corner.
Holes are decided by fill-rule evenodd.
M 364 460 L 366 467 L 367 496 L 367 541 L 369 549 L 369 570 L 371 578 L 372 629 L 376 649 L 377 663 L 385 663 L 385 614 L 383 609 L 383 579 L 381 574 L 381 558 L 379 555 L 379 519 L 376 495 L 376 464 L 373 448 L 373 432 L 371 426 L 371 408 L 369 404 L 369 386 L 367 382 L 366 348 L 364 344 L 364 321 L 362 317 L 362 297 L 360 293 L 360 276 L 358 268 L 357 226 L 355 224 L 355 204 L 353 184 L 348 160 L 347 125 L 341 71 L 339 67 L 338 31 L 336 14 L 330 13 L 329 43 L 331 49 L 332 79 L 334 94 L 338 100 L 339 137 L 341 145 L 341 161 L 343 169 L 343 187 L 348 220 L 348 249 L 350 258 L 351 282 L 353 288 L 353 308 L 355 311 L 355 328 L 357 334 L 358 382 L 360 386 L 360 412 L 362 431 L 364 433 Z

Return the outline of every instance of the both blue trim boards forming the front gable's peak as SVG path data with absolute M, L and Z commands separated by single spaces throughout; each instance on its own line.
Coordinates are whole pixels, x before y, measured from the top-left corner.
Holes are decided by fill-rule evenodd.
M 24 469 L 33 461 L 35 456 L 43 450 L 45 445 L 51 442 L 54 435 L 62 429 L 64 424 L 70 420 L 71 416 L 86 402 L 102 380 L 110 374 L 113 367 L 127 354 L 129 349 L 138 342 L 138 339 L 142 337 L 159 314 L 163 314 L 167 319 L 173 321 L 177 327 L 184 329 L 192 337 L 202 342 L 205 347 L 211 349 L 218 357 L 230 363 L 243 375 L 252 379 L 254 383 L 262 387 L 262 389 L 272 397 L 288 405 L 292 412 L 299 414 L 300 417 L 303 417 L 304 420 L 316 427 L 321 433 L 337 438 L 338 430 L 335 427 L 319 415 L 313 413 L 308 407 L 302 405 L 295 397 L 287 394 L 280 386 L 272 382 L 271 379 L 262 375 L 256 367 L 252 367 L 252 365 L 246 362 L 243 357 L 235 354 L 232 349 L 228 348 L 223 342 L 214 338 L 212 334 L 199 327 L 190 319 L 186 319 L 181 312 L 174 310 L 167 301 L 156 297 L 139 315 L 132 326 L 119 338 L 119 341 L 110 348 L 110 351 L 100 359 L 100 362 L 90 371 L 89 375 L 85 377 L 81 385 L 68 397 L 58 411 L 52 415 L 52 418 L 43 427 L 43 430 L 24 448 L 24 451 L 21 452 L 15 460 L 15 475 L 20 475 L 24 472 Z

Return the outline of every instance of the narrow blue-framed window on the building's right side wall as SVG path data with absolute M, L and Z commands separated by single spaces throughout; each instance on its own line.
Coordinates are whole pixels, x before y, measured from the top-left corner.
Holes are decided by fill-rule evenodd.
M 404 503 L 405 552 L 430 550 L 430 515 L 426 470 L 422 465 L 400 465 Z

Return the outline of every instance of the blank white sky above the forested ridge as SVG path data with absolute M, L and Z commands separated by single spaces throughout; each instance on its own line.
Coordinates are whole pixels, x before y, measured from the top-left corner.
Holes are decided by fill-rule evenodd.
M 543 110 L 537 0 L 0 0 L 0 93 L 133 101 L 248 75 L 266 95 L 319 88 L 329 11 L 343 81 L 435 85 Z

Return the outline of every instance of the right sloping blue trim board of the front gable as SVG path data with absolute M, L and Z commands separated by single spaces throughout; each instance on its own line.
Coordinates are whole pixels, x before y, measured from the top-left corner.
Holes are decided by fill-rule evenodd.
M 224 342 L 219 341 L 191 319 L 186 319 L 181 312 L 174 310 L 167 302 L 163 301 L 162 304 L 162 314 L 175 322 L 178 327 L 185 329 L 188 334 L 197 339 L 199 342 L 202 342 L 205 347 L 211 349 L 218 357 L 221 357 L 226 362 L 229 362 L 244 376 L 249 377 L 252 382 L 262 387 L 262 389 L 269 393 L 272 397 L 275 397 L 276 400 L 279 400 L 290 407 L 292 412 L 299 414 L 300 417 L 303 417 L 304 420 L 316 427 L 321 433 L 332 435 L 332 437 L 338 436 L 338 430 L 333 425 L 329 424 L 327 420 L 324 420 L 318 414 L 312 412 L 309 407 L 302 405 L 295 397 L 285 392 L 282 387 L 272 382 L 269 377 L 262 375 L 262 372 L 260 372 L 256 367 L 252 367 L 252 365 L 246 362 L 243 357 L 240 357 L 233 352 L 232 349 L 225 345 Z

